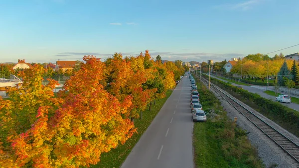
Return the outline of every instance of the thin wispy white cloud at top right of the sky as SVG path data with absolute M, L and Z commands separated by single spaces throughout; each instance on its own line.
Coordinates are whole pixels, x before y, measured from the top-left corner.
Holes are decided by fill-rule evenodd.
M 216 8 L 248 10 L 252 8 L 254 5 L 257 5 L 263 1 L 264 0 L 248 0 L 248 1 L 235 3 L 235 4 L 222 4 L 216 6 Z

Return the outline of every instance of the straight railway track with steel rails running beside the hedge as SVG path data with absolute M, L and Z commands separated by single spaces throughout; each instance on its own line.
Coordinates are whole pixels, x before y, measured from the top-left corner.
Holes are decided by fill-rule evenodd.
M 201 79 L 204 83 L 208 84 L 207 79 L 203 77 Z M 231 106 L 233 106 L 237 111 L 245 116 L 251 123 L 253 123 L 258 129 L 260 129 L 264 134 L 266 134 L 271 140 L 273 140 L 278 146 L 280 146 L 285 152 L 287 152 L 293 159 L 295 159 L 299 163 L 298 144 L 290 140 L 288 137 L 284 136 L 278 130 L 270 126 L 267 122 L 265 122 L 253 112 L 248 110 L 246 107 L 235 101 L 234 98 L 218 89 L 211 82 L 210 88 L 218 93 L 225 101 L 227 101 Z

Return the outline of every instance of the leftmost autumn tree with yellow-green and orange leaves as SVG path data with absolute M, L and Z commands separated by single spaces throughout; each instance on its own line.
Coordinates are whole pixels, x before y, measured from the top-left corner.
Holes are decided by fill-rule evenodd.
M 38 64 L 33 69 L 20 71 L 23 83 L 7 90 L 10 100 L 0 99 L 0 165 L 3 167 L 21 167 L 32 162 L 40 154 L 37 151 L 43 150 L 35 146 L 35 138 L 26 139 L 27 143 L 24 143 L 24 139 L 29 136 L 28 130 L 36 129 L 34 125 L 38 119 L 35 116 L 40 107 L 49 107 L 48 115 L 43 118 L 46 121 L 63 102 L 54 97 L 52 90 L 56 81 L 48 79 L 49 83 L 42 85 L 43 73 L 44 68 Z M 33 148 L 37 151 L 32 152 Z

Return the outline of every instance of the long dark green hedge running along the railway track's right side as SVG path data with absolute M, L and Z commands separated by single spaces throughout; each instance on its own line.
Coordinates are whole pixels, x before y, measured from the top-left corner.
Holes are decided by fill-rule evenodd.
M 205 75 L 205 74 L 202 74 L 202 76 L 204 76 L 205 78 L 208 77 L 208 75 Z M 255 103 L 259 108 L 266 110 L 268 112 L 268 114 L 270 114 L 271 116 L 274 116 L 275 118 L 279 117 L 281 119 L 281 121 L 290 123 L 290 125 L 295 125 L 297 130 L 299 129 L 299 112 L 298 111 L 288 108 L 288 107 L 286 107 L 280 103 L 274 102 L 272 100 L 263 98 L 256 93 L 250 93 L 245 89 L 240 89 L 235 86 L 232 86 L 231 84 L 223 82 L 216 78 L 210 78 L 210 81 L 217 82 L 218 84 L 222 85 L 224 88 L 243 96 L 244 98 Z

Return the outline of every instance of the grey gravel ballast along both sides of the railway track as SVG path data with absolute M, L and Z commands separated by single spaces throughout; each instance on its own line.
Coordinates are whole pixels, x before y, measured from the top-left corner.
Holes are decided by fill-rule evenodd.
M 253 125 L 240 112 L 233 108 L 227 101 L 225 101 L 221 96 L 219 96 L 219 94 L 214 92 L 212 89 L 211 91 L 221 101 L 221 105 L 224 107 L 225 111 L 227 111 L 227 115 L 232 120 L 234 119 L 234 117 L 237 117 L 237 125 L 247 131 L 248 139 L 250 140 L 251 144 L 257 148 L 259 153 L 258 155 L 262 159 L 266 168 L 299 168 L 299 163 L 297 163 L 293 158 L 291 158 L 285 151 L 283 151 L 278 145 L 276 145 L 269 137 L 267 137 L 262 131 L 260 131 L 255 125 Z M 230 97 L 233 97 L 227 92 L 225 93 Z M 291 139 L 293 142 L 299 144 L 299 138 L 289 133 L 287 130 L 283 129 L 273 121 L 269 120 L 262 114 L 258 113 L 251 107 L 244 104 L 243 102 L 239 100 L 237 100 L 237 102 L 240 103 L 242 106 L 245 106 L 251 112 L 255 113 L 257 116 L 266 121 L 273 128 L 280 131 L 283 135 Z

